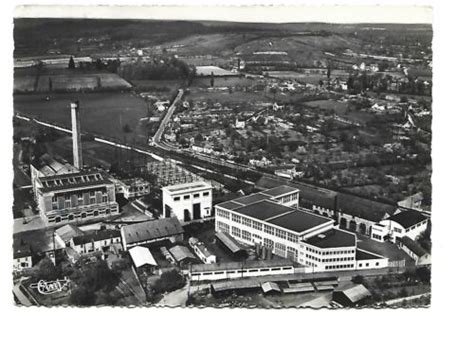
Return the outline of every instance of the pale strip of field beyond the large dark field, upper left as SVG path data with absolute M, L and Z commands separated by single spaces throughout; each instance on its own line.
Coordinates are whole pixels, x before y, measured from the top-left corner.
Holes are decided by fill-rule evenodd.
M 16 75 L 13 90 L 16 93 L 47 93 L 65 91 L 123 90 L 131 85 L 116 74 L 42 74 Z

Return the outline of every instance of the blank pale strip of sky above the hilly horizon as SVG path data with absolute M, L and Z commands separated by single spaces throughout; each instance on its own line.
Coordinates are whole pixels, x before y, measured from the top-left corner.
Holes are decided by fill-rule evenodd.
M 15 17 L 219 20 L 235 22 L 431 23 L 429 6 L 85 6 L 23 5 Z

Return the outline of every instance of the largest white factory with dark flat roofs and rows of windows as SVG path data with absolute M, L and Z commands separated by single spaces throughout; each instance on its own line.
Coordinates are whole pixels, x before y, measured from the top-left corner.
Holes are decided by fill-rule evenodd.
M 260 244 L 313 272 L 357 269 L 355 234 L 338 229 L 328 217 L 297 208 L 298 197 L 298 189 L 281 186 L 218 204 L 216 232 Z M 377 267 L 387 265 L 378 262 Z

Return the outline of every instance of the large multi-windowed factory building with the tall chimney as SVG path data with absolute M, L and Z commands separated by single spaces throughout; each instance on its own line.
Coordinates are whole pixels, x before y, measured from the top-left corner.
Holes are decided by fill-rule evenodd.
M 105 173 L 83 170 L 79 103 L 71 103 L 74 166 L 42 156 L 31 165 L 33 192 L 47 226 L 119 214 L 115 185 Z

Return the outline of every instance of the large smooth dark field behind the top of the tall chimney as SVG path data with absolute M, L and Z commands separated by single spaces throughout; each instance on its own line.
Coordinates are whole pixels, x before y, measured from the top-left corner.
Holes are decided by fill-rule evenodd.
M 49 96 L 50 100 L 46 101 Z M 70 102 L 80 103 L 82 130 L 109 138 L 145 144 L 147 136 L 140 118 L 147 113 L 145 102 L 132 93 L 65 93 L 15 95 L 14 109 L 17 112 L 37 116 L 67 128 L 71 126 Z M 130 132 L 124 132 L 124 127 Z

